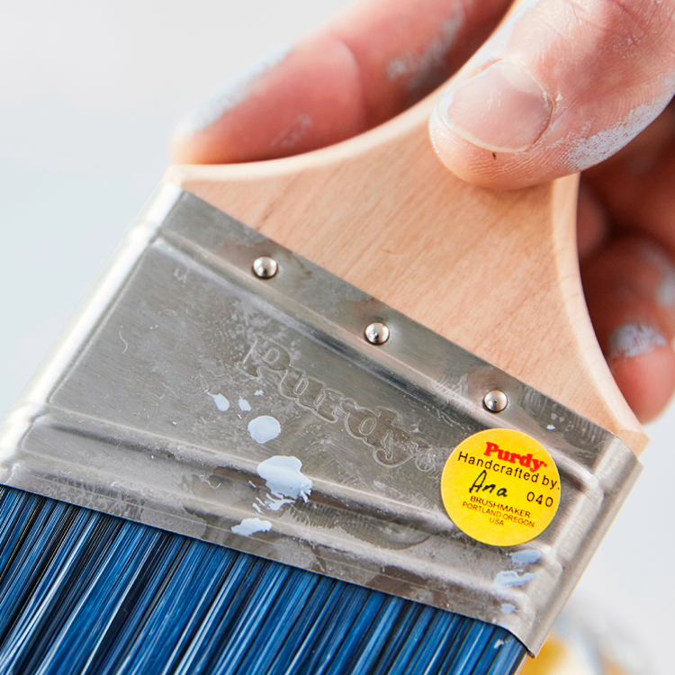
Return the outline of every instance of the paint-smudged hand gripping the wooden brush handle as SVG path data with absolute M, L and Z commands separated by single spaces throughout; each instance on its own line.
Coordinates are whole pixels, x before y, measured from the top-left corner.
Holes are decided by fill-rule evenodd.
M 430 122 L 457 175 L 513 188 L 597 165 L 584 172 L 578 211 L 584 291 L 618 386 L 647 421 L 675 388 L 675 120 L 671 107 L 658 116 L 675 90 L 673 6 L 529 3 L 472 57 L 506 4 L 354 6 L 186 121 L 175 161 L 330 145 L 401 112 L 464 64 Z

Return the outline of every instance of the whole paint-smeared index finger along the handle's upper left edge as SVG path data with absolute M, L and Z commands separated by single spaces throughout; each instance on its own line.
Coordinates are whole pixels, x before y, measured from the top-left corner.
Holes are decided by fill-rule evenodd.
M 179 126 L 174 159 L 269 159 L 355 136 L 441 85 L 508 4 L 369 0 L 353 6 L 226 85 Z

